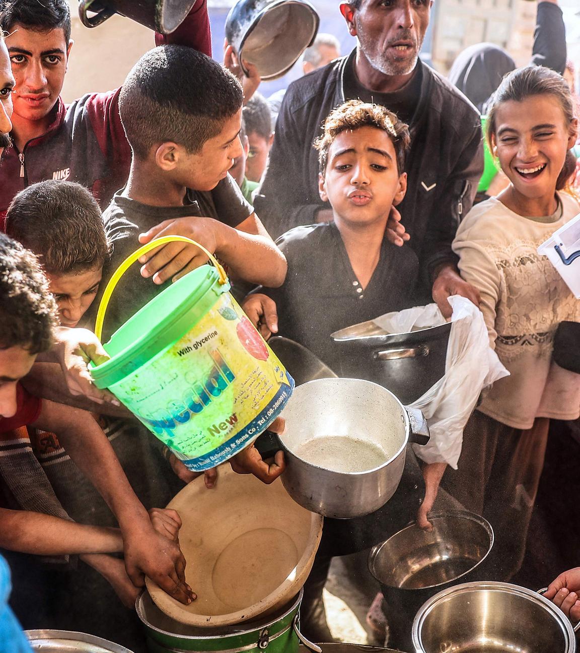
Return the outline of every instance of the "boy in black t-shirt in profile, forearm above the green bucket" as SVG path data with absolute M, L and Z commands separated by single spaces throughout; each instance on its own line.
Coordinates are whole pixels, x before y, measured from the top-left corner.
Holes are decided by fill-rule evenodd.
M 129 72 L 119 112 L 132 162 L 127 185 L 103 215 L 113 246 L 104 279 L 140 244 L 174 234 L 205 246 L 234 278 L 282 283 L 286 261 L 228 174 L 241 154 L 242 101 L 236 78 L 191 48 L 155 48 Z M 115 289 L 104 338 L 164 282 L 206 263 L 206 257 L 176 242 L 140 262 L 141 270 L 130 268 Z M 142 277 L 152 277 L 157 288 Z

